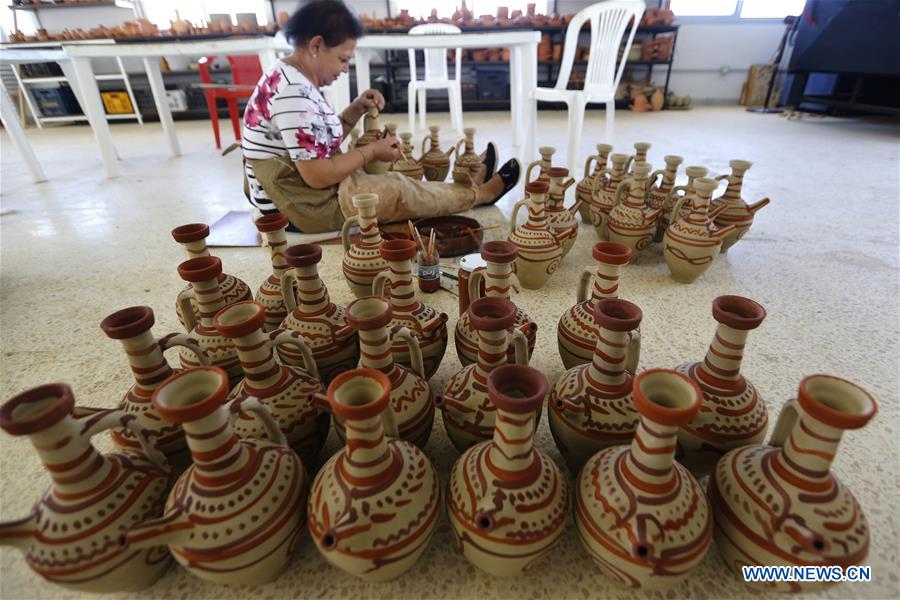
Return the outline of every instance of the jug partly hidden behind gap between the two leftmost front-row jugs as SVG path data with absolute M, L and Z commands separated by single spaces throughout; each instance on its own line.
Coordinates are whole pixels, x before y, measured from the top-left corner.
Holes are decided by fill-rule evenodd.
M 149 306 L 132 306 L 116 311 L 100 322 L 100 329 L 107 337 L 119 340 L 134 375 L 134 383 L 119 402 L 119 408 L 134 415 L 136 422 L 147 433 L 150 442 L 162 452 L 169 464 L 181 470 L 190 463 L 184 432 L 178 425 L 166 423 L 150 402 L 159 385 L 180 369 L 173 369 L 163 352 L 181 346 L 193 352 L 201 365 L 209 364 L 209 356 L 200 343 L 183 333 L 170 333 L 161 338 L 153 337 L 150 329 L 155 317 Z M 130 429 L 110 431 L 116 446 L 124 450 L 139 451 L 141 440 Z

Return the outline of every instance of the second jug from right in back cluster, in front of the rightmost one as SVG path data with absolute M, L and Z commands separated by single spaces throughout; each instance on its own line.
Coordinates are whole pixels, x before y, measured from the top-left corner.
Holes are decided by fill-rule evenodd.
M 716 183 L 707 177 L 695 180 L 691 212 L 666 229 L 663 256 L 675 281 L 692 283 L 703 275 L 718 256 L 722 238 L 734 229 L 734 225 L 719 229 L 709 218 L 709 201 Z M 683 198 L 679 200 L 682 202 Z M 681 207 L 676 204 L 673 214 L 680 213 Z

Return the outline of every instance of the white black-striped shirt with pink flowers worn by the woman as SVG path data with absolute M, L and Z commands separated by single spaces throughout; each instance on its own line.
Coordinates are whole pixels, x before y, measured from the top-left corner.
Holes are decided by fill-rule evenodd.
M 325 97 L 300 71 L 282 60 L 265 73 L 244 109 L 244 157 L 264 160 L 329 158 L 341 144 L 343 127 Z M 277 212 L 271 198 L 245 167 L 250 203 L 264 214 Z

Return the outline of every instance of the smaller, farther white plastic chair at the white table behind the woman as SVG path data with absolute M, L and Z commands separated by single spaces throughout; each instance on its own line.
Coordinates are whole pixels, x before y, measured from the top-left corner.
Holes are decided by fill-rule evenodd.
M 426 23 L 416 25 L 409 30 L 409 35 L 452 35 L 461 33 L 456 25 L 446 23 Z M 446 89 L 450 102 L 450 122 L 457 135 L 462 136 L 462 90 L 460 89 L 460 68 L 462 65 L 462 49 L 456 49 L 456 78 L 450 79 L 447 73 L 447 49 L 426 49 L 425 79 L 416 80 L 416 51 L 409 50 L 409 131 L 415 133 L 416 99 L 419 100 L 419 127 L 425 129 L 425 95 L 428 90 Z

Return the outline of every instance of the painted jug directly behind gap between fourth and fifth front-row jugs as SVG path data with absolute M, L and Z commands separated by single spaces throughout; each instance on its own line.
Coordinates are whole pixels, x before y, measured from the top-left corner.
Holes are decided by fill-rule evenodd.
M 625 369 L 625 359 L 642 318 L 641 309 L 627 300 L 597 300 L 593 360 L 566 371 L 553 388 L 547 403 L 550 432 L 573 473 L 606 446 L 631 441 L 637 429 L 634 371 Z

